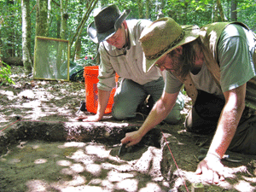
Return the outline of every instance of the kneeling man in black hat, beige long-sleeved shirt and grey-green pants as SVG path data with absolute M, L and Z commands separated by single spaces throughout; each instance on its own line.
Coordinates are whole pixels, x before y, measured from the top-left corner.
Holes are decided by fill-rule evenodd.
M 130 9 L 125 9 L 121 13 L 115 4 L 94 11 L 94 21 L 87 32 L 90 39 L 99 44 L 98 108 L 96 115 L 79 119 L 102 119 L 110 92 L 115 86 L 115 73 L 122 79 L 113 98 L 112 115 L 115 119 L 135 118 L 138 106 L 148 95 L 156 102 L 164 90 L 162 73 L 157 67 L 152 67 L 148 73 L 143 71 L 143 49 L 138 40 L 151 21 L 125 20 L 130 12 Z M 182 109 L 183 98 L 180 95 L 165 121 L 176 124 L 181 119 Z

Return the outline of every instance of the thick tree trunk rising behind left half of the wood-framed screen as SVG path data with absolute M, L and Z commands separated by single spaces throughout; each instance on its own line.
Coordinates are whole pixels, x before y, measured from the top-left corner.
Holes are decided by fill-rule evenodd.
M 48 1 L 37 0 L 36 36 L 47 37 L 49 32 Z

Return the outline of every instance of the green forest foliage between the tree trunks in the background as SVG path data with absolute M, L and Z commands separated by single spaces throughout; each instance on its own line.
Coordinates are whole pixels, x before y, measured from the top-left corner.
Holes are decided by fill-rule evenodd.
M 148 0 L 149 1 L 149 0 Z M 61 15 L 59 1 L 51 1 L 49 11 L 49 37 L 60 38 Z M 212 7 L 215 0 L 160 0 L 149 1 L 149 19 L 156 20 L 161 11 L 164 16 L 172 17 L 181 25 L 195 24 L 198 26 L 206 25 L 212 22 Z M 230 20 L 230 0 L 222 0 L 224 15 Z M 35 39 L 36 25 L 36 0 L 30 0 L 31 22 L 32 22 L 32 55 Z M 131 14 L 127 19 L 137 19 L 139 10 L 137 0 L 99 0 L 96 7 L 104 7 L 109 3 L 116 3 L 121 12 L 124 9 L 131 9 Z M 80 20 L 88 9 L 90 1 L 69 0 L 67 6 L 67 39 L 71 40 L 75 34 Z M 143 0 L 143 15 L 146 15 L 146 0 Z M 21 9 L 20 0 L 3 1 L 0 0 L 0 30 L 3 57 L 21 55 Z M 251 29 L 256 31 L 256 2 L 255 0 L 237 1 L 238 21 L 244 22 Z M 94 44 L 87 35 L 87 26 L 93 21 L 92 14 L 84 25 L 81 33 L 81 51 L 80 58 L 84 56 L 96 56 L 96 44 Z M 72 49 L 73 50 L 73 49 Z M 12 51 L 12 52 L 11 52 Z

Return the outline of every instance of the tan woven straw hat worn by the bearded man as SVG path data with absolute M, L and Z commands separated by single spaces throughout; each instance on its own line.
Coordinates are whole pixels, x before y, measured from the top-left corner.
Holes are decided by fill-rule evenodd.
M 199 26 L 180 26 L 170 17 L 155 20 L 145 27 L 140 37 L 143 47 L 143 70 L 148 72 L 162 56 L 178 46 L 195 41 Z

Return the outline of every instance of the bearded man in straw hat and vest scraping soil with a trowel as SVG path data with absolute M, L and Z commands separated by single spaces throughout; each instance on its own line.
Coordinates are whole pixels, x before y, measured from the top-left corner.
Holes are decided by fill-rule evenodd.
M 138 131 L 122 143 L 139 143 L 172 110 L 183 84 L 193 102 L 186 131 L 214 134 L 204 160 L 197 167 L 208 183 L 224 179 L 221 163 L 226 151 L 256 154 L 255 34 L 240 22 L 180 26 L 172 18 L 155 20 L 140 42 L 145 71 L 166 70 L 161 99 Z

